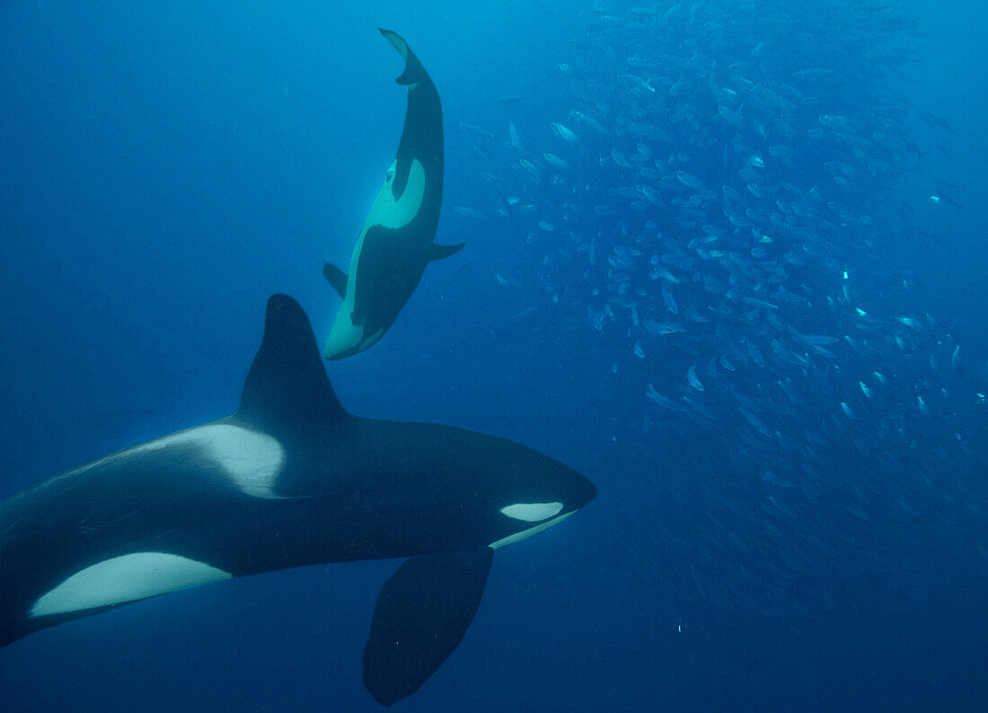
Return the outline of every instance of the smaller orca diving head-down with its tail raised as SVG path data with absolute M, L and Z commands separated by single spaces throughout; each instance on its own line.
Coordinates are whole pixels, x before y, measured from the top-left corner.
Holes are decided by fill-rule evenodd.
M 387 170 L 350 259 L 350 275 L 327 264 L 323 274 L 343 297 L 323 350 L 330 359 L 363 352 L 394 324 L 426 266 L 463 247 L 436 245 L 443 199 L 443 109 L 439 92 L 407 42 L 379 30 L 405 58 L 398 84 L 408 86 L 398 154 Z

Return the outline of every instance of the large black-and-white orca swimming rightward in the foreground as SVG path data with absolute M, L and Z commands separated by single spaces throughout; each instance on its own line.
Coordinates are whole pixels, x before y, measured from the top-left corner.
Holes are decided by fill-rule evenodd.
M 504 438 L 349 414 L 305 313 L 275 295 L 236 413 L 0 503 L 0 644 L 231 577 L 407 557 L 377 599 L 364 653 L 365 683 L 389 705 L 453 653 L 494 550 L 595 493 Z

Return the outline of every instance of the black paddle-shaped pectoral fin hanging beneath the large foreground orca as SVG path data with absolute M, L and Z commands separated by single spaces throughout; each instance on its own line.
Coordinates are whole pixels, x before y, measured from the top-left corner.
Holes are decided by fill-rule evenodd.
M 487 584 L 494 550 L 419 555 L 385 584 L 364 647 L 364 684 L 381 705 L 414 693 L 459 645 Z

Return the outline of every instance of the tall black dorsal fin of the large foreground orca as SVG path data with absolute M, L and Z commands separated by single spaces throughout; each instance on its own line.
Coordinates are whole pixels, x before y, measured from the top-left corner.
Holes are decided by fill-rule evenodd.
M 277 429 L 282 424 L 327 424 L 346 415 L 301 305 L 287 294 L 272 295 L 264 339 L 247 372 L 237 418 Z

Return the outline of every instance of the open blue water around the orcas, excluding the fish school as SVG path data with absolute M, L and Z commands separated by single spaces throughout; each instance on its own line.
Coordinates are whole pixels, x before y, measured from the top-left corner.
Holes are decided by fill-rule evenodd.
M 437 241 L 467 247 L 430 266 L 385 338 L 330 364 L 330 378 L 355 413 L 508 436 L 600 491 L 585 512 L 498 552 L 464 641 L 398 707 L 983 709 L 983 510 L 956 538 L 952 521 L 926 523 L 920 553 L 875 533 L 883 556 L 921 563 L 880 596 L 879 567 L 844 572 L 822 609 L 798 593 L 769 597 L 784 602 L 771 612 L 750 593 L 726 607 L 689 600 L 691 568 L 715 573 L 728 555 L 682 561 L 669 542 L 714 525 L 698 512 L 672 537 L 662 500 L 668 483 L 702 475 L 691 469 L 727 461 L 701 459 L 700 437 L 642 434 L 641 385 L 611 378 L 617 356 L 586 324 L 517 318 L 546 295 L 506 292 L 493 266 L 541 258 L 525 233 L 451 209 L 497 191 L 461 122 L 506 141 L 514 120 L 547 143 L 548 123 L 575 105 L 557 65 L 584 32 L 579 8 L 515 5 L 4 3 L 0 494 L 229 414 L 271 293 L 292 294 L 326 333 L 338 299 L 322 263 L 349 261 L 404 114 L 400 59 L 374 31 L 383 26 L 410 42 L 442 93 Z M 972 0 L 911 0 L 906 11 L 922 35 L 911 40 L 915 81 L 900 92 L 953 127 L 913 183 L 921 196 L 946 179 L 963 207 L 922 207 L 937 239 L 900 242 L 875 269 L 918 277 L 914 311 L 956 333 L 973 392 L 988 380 L 988 20 Z M 496 101 L 516 94 L 530 99 Z M 907 120 L 920 139 L 930 133 Z M 968 426 L 983 464 L 984 413 L 970 418 L 981 419 Z M 848 457 L 826 454 L 835 471 Z M 372 710 L 361 652 L 395 564 L 231 581 L 45 630 L 0 654 L 0 708 Z M 848 595 L 856 583 L 861 598 Z

